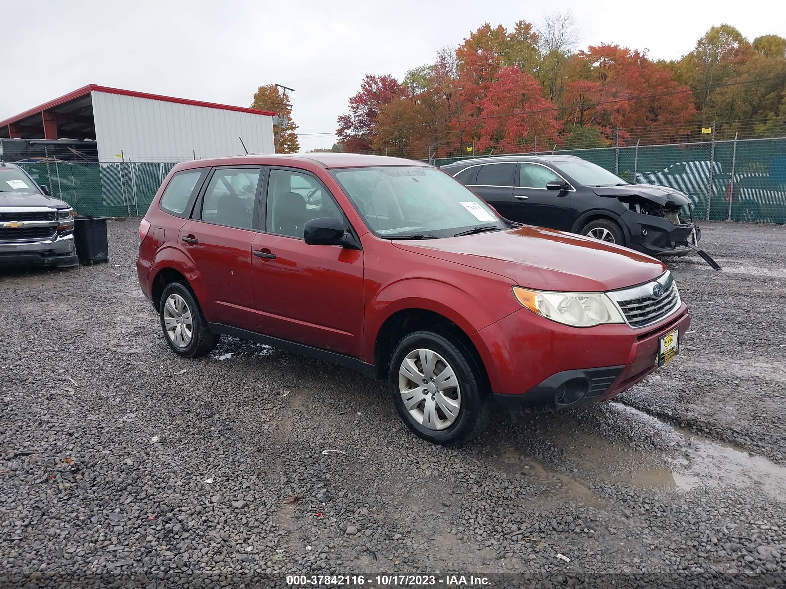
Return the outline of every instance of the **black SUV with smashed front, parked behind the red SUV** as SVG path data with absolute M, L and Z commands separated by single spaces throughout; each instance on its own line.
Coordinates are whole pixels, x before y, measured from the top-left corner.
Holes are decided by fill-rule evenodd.
M 650 255 L 682 255 L 701 232 L 665 186 L 630 184 L 574 155 L 509 155 L 442 166 L 503 217 L 619 243 Z M 686 207 L 687 208 L 687 207 Z

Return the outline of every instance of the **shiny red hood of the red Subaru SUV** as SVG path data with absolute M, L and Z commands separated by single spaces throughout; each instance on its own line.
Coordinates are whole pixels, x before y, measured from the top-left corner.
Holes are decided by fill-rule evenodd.
M 666 271 L 655 258 L 573 233 L 523 225 L 396 247 L 505 276 L 540 291 L 612 291 Z

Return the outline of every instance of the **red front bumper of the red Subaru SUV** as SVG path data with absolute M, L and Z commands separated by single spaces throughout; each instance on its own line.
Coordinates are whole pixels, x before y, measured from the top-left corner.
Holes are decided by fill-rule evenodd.
M 630 389 L 657 368 L 659 337 L 679 327 L 683 338 L 689 326 L 685 302 L 676 313 L 641 329 L 568 327 L 521 309 L 477 331 L 472 341 L 498 405 L 509 411 L 563 408 L 608 401 Z M 571 402 L 570 387 L 580 380 L 586 382 L 585 394 Z M 562 385 L 567 390 L 560 391 Z

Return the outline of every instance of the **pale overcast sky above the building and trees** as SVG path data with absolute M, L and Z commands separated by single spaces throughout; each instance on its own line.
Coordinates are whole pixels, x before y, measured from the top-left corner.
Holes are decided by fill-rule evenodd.
M 565 9 L 580 47 L 613 42 L 653 59 L 681 57 L 722 22 L 751 41 L 786 36 L 783 0 L 0 0 L 0 119 L 89 83 L 246 107 L 257 86 L 279 83 L 296 89 L 301 148 L 329 147 L 366 73 L 402 79 L 483 22 L 537 25 L 546 11 Z

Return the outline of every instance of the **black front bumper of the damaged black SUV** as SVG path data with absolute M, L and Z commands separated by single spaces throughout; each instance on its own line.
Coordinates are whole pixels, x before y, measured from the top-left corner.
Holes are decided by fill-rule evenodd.
M 692 223 L 674 225 L 663 217 L 637 213 L 633 210 L 626 210 L 622 219 L 630 233 L 628 247 L 653 256 L 689 254 L 692 250 L 678 243 L 692 241 L 694 229 L 696 229 L 696 239 L 693 243 L 698 245 L 701 238 L 700 230 Z

